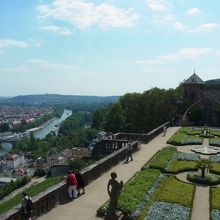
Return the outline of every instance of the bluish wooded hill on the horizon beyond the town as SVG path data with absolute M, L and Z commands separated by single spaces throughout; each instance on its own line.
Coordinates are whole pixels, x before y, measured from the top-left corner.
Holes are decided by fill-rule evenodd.
M 28 105 L 63 105 L 63 104 L 93 104 L 116 102 L 119 96 L 78 96 L 78 95 L 22 95 L 4 99 L 5 104 L 28 104 Z

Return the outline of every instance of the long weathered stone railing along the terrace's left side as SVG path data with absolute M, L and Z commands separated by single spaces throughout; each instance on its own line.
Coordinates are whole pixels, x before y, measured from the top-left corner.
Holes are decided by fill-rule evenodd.
M 169 122 L 159 126 L 158 128 L 154 129 L 153 131 L 146 134 L 146 136 L 142 136 L 142 134 L 127 134 L 127 133 L 120 133 L 120 137 L 127 138 L 127 140 L 135 139 L 135 137 L 139 137 L 138 141 L 133 141 L 133 151 L 137 151 L 139 149 L 140 141 L 149 142 L 158 134 L 160 134 L 163 130 L 163 127 L 169 126 Z M 129 139 L 130 138 L 130 139 Z M 108 140 L 113 141 L 114 140 Z M 107 142 L 108 142 L 107 141 Z M 106 143 L 107 143 L 106 142 Z M 126 141 L 127 142 L 127 141 Z M 121 143 L 124 143 L 123 141 Z M 86 185 L 88 185 L 93 180 L 100 177 L 103 173 L 110 170 L 113 166 L 117 165 L 121 161 L 125 160 L 127 155 L 127 149 L 125 146 L 121 145 L 121 148 L 117 151 L 114 151 L 110 155 L 102 158 L 101 160 L 93 163 L 92 165 L 88 166 L 87 168 L 81 171 L 83 178 L 85 179 Z M 59 204 L 63 204 L 67 201 L 68 194 L 67 194 L 67 185 L 66 182 L 63 181 L 48 190 L 38 194 L 33 198 L 34 203 L 34 212 L 33 218 L 36 219 L 38 216 L 41 216 L 51 209 L 55 208 Z M 20 210 L 20 206 L 17 206 L 7 213 L 0 215 L 1 220 L 21 220 L 22 219 L 22 212 Z

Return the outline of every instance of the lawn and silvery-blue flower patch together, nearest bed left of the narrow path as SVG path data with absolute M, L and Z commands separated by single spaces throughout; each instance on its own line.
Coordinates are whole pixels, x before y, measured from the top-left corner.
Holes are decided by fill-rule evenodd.
M 194 192 L 193 184 L 184 183 L 174 176 L 166 177 L 155 190 L 152 199 L 143 208 L 137 220 L 181 219 L 176 218 L 173 208 L 177 208 L 179 216 L 185 216 L 184 220 L 190 219 Z M 157 215 L 157 210 L 160 209 L 158 204 L 162 205 L 160 215 Z M 155 218 L 150 218 L 152 216 Z

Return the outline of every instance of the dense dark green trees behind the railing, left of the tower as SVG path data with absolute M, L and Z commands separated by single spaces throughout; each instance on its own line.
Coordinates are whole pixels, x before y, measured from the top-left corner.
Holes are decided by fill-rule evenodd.
M 152 88 L 142 94 L 127 93 L 109 109 L 94 113 L 92 124 L 112 132 L 147 133 L 169 120 L 175 111 L 173 104 L 181 97 L 181 85 L 175 90 Z

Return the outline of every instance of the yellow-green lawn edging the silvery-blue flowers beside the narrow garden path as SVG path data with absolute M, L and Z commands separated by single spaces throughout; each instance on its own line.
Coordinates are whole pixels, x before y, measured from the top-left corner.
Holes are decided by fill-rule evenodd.
M 154 202 L 177 203 L 192 208 L 194 192 L 193 184 L 184 183 L 174 176 L 165 177 L 137 220 L 143 220 L 147 216 L 148 210 Z

